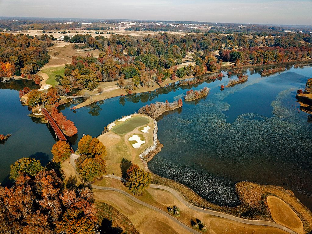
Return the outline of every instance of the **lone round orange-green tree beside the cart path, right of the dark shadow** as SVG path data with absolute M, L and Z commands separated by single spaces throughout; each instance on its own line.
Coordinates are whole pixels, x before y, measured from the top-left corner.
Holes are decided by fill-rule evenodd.
M 144 189 L 149 187 L 152 181 L 151 173 L 139 168 L 136 164 L 131 164 L 126 172 L 126 182 L 125 186 L 134 195 L 139 195 Z

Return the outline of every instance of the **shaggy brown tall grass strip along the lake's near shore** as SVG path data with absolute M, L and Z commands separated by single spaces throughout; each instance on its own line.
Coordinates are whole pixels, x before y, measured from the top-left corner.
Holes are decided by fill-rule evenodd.
M 240 197 L 241 204 L 236 207 L 221 207 L 208 202 L 190 188 L 173 180 L 153 174 L 152 183 L 164 185 L 179 191 L 185 200 L 195 206 L 256 220 L 274 221 L 266 202 L 267 196 L 274 195 L 285 201 L 295 211 L 303 222 L 305 232 L 312 230 L 312 212 L 290 190 L 282 187 L 239 182 L 236 184 L 236 192 Z

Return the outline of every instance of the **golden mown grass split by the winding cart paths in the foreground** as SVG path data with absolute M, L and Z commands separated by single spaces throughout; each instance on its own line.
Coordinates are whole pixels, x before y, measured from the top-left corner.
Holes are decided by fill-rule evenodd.
M 96 184 L 99 186 L 119 188 L 130 193 L 124 187 L 122 182 L 116 179 L 104 178 L 102 181 L 97 181 Z M 152 229 L 155 226 L 159 226 L 159 228 L 162 227 L 164 228 L 163 230 L 166 231 L 168 230 L 166 233 L 189 233 L 185 230 L 177 230 L 177 225 L 165 218 L 162 214 L 152 211 L 148 207 L 139 205 L 138 203 L 129 200 L 129 198 L 123 194 L 116 193 L 114 191 L 103 191 L 97 189 L 94 189 L 93 192 L 95 195 L 95 201 L 109 203 L 111 206 L 115 207 L 119 212 L 121 212 L 124 216 L 129 218 L 131 222 L 133 222 L 135 228 L 140 233 L 163 233 L 157 232 L 156 229 Z M 194 220 L 194 218 L 200 219 L 205 224 L 209 224 L 209 230 L 211 233 L 286 234 L 286 232 L 277 228 L 265 227 L 262 225 L 255 226 L 242 224 L 221 217 L 211 216 L 201 211 L 192 210 L 180 202 L 172 193 L 158 188 L 148 188 L 147 190 L 143 191 L 140 196 L 134 197 L 154 207 L 157 207 L 166 213 L 168 213 L 167 207 L 177 206 L 180 208 L 181 215 L 180 217 L 172 215 L 172 217 L 176 218 L 189 227 L 192 227 L 191 221 Z M 152 220 L 153 222 L 151 222 Z M 168 224 L 169 227 L 164 223 Z

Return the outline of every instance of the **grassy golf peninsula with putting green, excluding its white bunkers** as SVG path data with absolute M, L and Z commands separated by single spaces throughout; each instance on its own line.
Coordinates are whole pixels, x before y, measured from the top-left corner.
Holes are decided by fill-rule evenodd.
M 125 121 L 115 121 L 115 126 L 113 126 L 110 131 L 102 134 L 98 139 L 105 145 L 107 150 L 107 156 L 105 157 L 107 163 L 108 173 L 117 176 L 122 175 L 121 171 L 121 161 L 123 159 L 124 163 L 130 161 L 139 165 L 143 168 L 144 165 L 139 158 L 139 154 L 142 153 L 147 147 L 154 144 L 154 134 L 153 130 L 155 128 L 154 120 L 146 115 L 132 115 L 131 118 Z M 141 131 L 143 127 L 150 126 L 148 133 Z M 132 135 L 138 135 L 141 140 L 145 143 L 142 144 L 138 149 L 135 149 L 132 144 L 136 143 L 134 141 L 129 141 Z

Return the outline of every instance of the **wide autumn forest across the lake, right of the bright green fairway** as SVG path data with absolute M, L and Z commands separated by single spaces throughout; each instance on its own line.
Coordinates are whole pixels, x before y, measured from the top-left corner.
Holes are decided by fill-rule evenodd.
M 64 95 L 74 87 L 94 90 L 101 81 L 118 81 L 128 93 L 138 85 L 161 85 L 164 80 L 184 76 L 201 76 L 206 71 L 218 71 L 223 62 L 236 66 L 263 65 L 301 61 L 312 55 L 312 46 L 304 39 L 307 34 L 258 37 L 256 34 L 220 35 L 216 33 L 177 36 L 168 33 L 133 37 L 111 37 L 76 34 L 71 42 L 85 42 L 99 49 L 98 58 L 73 56 L 65 66 L 64 77 L 56 87 Z M 224 47 L 226 49 L 224 49 Z M 214 51 L 219 50 L 219 56 Z M 189 51 L 194 51 L 194 65 L 177 69 Z M 125 82 L 129 80 L 129 82 Z

